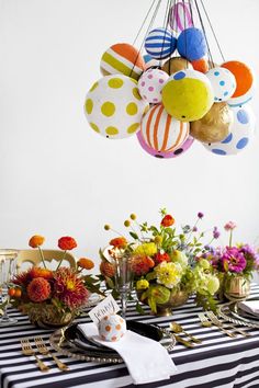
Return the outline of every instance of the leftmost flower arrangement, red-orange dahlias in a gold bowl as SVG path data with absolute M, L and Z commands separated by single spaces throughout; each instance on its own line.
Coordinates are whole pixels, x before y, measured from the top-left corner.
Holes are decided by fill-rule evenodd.
M 31 267 L 12 279 L 12 287 L 9 289 L 10 301 L 29 315 L 35 324 L 64 326 L 80 313 L 88 301 L 89 292 L 82 271 L 91 270 L 94 264 L 90 259 L 81 258 L 76 269 L 61 266 L 67 251 L 77 247 L 72 237 L 61 237 L 58 248 L 64 250 L 64 255 L 57 267 L 52 271 L 47 269 L 41 249 L 44 240 L 42 236 L 33 236 L 30 239 L 29 246 L 40 251 L 43 267 Z

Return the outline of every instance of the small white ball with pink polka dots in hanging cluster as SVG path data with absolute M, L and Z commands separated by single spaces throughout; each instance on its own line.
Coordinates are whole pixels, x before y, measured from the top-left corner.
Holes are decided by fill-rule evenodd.
M 148 69 L 138 80 L 138 91 L 140 96 L 150 104 L 161 102 L 161 90 L 169 76 L 160 69 Z

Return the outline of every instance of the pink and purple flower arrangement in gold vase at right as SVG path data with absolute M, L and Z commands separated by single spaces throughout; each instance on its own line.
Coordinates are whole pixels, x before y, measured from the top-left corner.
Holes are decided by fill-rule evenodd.
M 221 281 L 219 298 L 244 299 L 249 295 L 254 271 L 259 269 L 259 254 L 247 243 L 233 246 L 236 224 L 227 222 L 224 229 L 229 233 L 226 247 L 210 248 L 203 255 L 213 265 Z

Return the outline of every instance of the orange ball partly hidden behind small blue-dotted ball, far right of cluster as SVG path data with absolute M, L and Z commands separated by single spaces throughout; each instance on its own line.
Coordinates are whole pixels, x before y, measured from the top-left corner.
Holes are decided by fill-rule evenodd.
M 244 62 L 238 60 L 229 60 L 222 65 L 222 67 L 228 69 L 236 78 L 237 87 L 233 98 L 244 95 L 252 85 L 254 77 L 251 69 Z

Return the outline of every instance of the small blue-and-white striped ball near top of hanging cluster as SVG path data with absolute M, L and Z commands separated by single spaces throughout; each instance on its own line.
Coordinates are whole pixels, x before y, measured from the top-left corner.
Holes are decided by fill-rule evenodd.
M 167 28 L 155 28 L 145 41 L 145 49 L 155 59 L 170 57 L 177 47 L 177 38 Z

